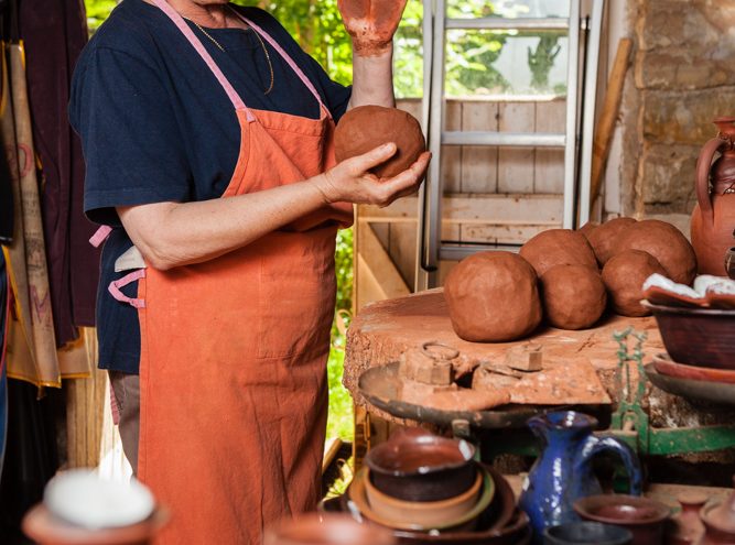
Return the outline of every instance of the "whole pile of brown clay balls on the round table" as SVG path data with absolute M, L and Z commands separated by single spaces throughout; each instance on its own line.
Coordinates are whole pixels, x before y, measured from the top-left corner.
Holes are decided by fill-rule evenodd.
M 609 306 L 623 316 L 646 316 L 640 304 L 653 273 L 691 285 L 696 258 L 672 225 L 616 218 L 579 231 L 551 229 L 518 254 L 482 252 L 455 266 L 444 283 L 455 333 L 475 342 L 505 342 L 550 326 L 584 329 Z

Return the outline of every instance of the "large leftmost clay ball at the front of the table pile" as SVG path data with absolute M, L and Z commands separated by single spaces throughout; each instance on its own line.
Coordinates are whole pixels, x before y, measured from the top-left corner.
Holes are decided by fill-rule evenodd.
M 465 259 L 444 283 L 454 331 L 475 342 L 529 335 L 541 321 L 537 282 L 533 268 L 511 252 L 482 252 Z

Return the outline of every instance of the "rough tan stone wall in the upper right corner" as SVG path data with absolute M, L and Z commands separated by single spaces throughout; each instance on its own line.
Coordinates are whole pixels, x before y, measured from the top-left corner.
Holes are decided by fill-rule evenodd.
M 620 208 L 687 218 L 712 120 L 735 116 L 735 1 L 627 0 L 627 10 L 636 45 L 621 106 Z

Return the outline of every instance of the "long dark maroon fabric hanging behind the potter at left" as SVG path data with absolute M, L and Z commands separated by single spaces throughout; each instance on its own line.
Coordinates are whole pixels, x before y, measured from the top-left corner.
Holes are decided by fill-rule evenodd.
M 99 275 L 99 250 L 87 242 L 95 226 L 83 211 L 82 146 L 66 111 L 72 72 L 87 43 L 84 6 L 79 0 L 21 0 L 19 33 L 26 53 L 53 318 L 61 347 L 78 337 L 77 327 L 95 325 Z M 65 369 L 61 361 L 60 366 L 64 377 L 79 371 Z

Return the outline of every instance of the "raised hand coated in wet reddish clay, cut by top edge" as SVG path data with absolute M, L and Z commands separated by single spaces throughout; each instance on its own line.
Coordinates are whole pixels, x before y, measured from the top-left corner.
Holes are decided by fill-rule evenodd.
M 337 0 L 355 53 L 376 56 L 390 50 L 407 0 Z

